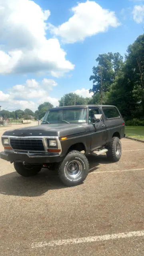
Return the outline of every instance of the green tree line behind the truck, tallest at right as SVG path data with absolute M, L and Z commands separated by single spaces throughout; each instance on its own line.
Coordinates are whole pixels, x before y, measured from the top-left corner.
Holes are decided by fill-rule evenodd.
M 59 106 L 82 104 L 106 104 L 117 106 L 126 124 L 144 126 L 144 34 L 128 46 L 123 58 L 119 52 L 99 54 L 97 66 L 92 68 L 91 98 L 83 98 L 75 93 L 65 94 L 59 100 Z M 1 111 L 6 118 L 41 119 L 45 112 L 54 106 L 44 102 L 38 110 L 30 109 L 9 112 Z

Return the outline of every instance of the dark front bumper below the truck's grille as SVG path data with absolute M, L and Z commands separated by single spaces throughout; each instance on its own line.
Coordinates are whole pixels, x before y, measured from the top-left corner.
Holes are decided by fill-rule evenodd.
M 42 164 L 61 162 L 62 157 L 59 154 L 38 154 L 23 152 L 0 152 L 0 158 L 8 162 L 25 162 L 27 164 Z

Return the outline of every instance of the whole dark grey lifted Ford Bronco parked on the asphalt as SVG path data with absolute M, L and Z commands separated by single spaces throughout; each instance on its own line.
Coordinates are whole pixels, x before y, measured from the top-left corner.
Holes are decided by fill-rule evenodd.
M 14 162 L 22 176 L 33 176 L 43 167 L 58 170 L 67 186 L 82 183 L 89 172 L 86 155 L 106 152 L 117 162 L 125 136 L 124 120 L 115 106 L 65 106 L 52 108 L 41 125 L 4 132 L 0 158 Z

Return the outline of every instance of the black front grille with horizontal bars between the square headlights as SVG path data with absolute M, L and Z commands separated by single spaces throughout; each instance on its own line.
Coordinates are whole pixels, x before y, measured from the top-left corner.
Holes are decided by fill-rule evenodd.
M 44 151 L 42 139 L 10 139 L 10 145 L 15 150 Z

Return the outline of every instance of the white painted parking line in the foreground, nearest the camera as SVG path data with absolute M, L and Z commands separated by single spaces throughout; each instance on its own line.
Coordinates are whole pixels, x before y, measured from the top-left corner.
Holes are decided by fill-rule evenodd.
M 136 236 L 144 236 L 144 230 L 103 235 L 103 236 L 88 236 L 88 237 L 81 237 L 81 238 L 78 237 L 78 238 L 73 238 L 73 239 L 53 240 L 50 242 L 35 242 L 35 243 L 32 243 L 31 247 L 38 248 L 38 247 L 46 247 L 46 246 L 61 246 L 61 245 L 69 245 L 69 244 L 101 242 L 101 241 L 106 241 L 106 240 L 114 240 L 114 239 L 119 239 L 119 238 L 130 238 L 130 237 L 136 237 Z

